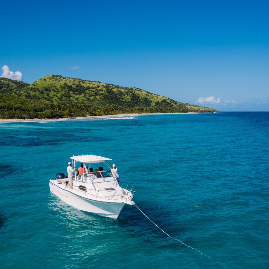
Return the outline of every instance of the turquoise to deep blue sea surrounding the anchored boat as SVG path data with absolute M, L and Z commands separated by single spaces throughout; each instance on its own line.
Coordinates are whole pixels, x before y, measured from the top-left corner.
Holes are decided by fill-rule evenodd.
M 269 113 L 0 124 L 1 268 L 269 268 Z M 117 220 L 50 193 L 69 157 L 113 159 L 137 191 Z

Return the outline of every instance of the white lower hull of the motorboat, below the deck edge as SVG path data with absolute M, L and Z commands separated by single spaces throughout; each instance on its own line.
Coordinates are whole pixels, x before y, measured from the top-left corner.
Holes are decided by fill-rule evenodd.
M 68 189 L 58 187 L 49 181 L 50 190 L 62 201 L 79 210 L 91 212 L 109 218 L 117 218 L 125 203 L 101 202 L 76 195 Z

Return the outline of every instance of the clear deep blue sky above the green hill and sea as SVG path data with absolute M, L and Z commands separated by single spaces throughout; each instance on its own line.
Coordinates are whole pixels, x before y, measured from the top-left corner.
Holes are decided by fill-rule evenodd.
M 2 1 L 0 65 L 28 83 L 57 74 L 269 111 L 268 14 L 267 1 Z

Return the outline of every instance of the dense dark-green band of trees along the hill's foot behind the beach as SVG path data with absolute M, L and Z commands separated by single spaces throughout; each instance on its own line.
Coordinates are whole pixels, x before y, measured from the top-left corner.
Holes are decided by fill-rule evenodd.
M 128 107 L 118 105 L 92 106 L 89 104 L 57 104 L 45 100 L 27 99 L 0 94 L 0 118 L 2 119 L 50 119 L 64 117 L 101 116 L 127 113 L 174 113 L 174 112 L 213 112 L 213 109 L 193 106 L 187 109 L 184 104 L 175 107 Z

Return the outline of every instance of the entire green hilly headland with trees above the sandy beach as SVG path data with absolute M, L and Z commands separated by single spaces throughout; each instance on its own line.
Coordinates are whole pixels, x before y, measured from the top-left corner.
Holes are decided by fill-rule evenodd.
M 139 88 L 48 75 L 32 84 L 0 78 L 1 118 L 52 118 L 117 113 L 215 112 Z

